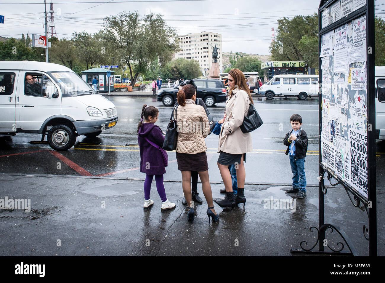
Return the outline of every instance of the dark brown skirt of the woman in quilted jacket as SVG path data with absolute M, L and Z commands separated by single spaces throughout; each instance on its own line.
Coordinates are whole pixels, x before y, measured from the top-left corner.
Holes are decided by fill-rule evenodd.
M 189 154 L 175 152 L 179 171 L 206 171 L 209 169 L 207 164 L 206 151 Z

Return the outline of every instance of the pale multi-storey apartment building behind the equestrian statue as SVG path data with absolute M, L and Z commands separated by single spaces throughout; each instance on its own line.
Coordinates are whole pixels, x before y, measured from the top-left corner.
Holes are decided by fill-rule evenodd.
M 219 70 L 222 72 L 222 35 L 215 32 L 188 33 L 186 35 L 178 35 L 179 51 L 175 54 L 175 59 L 194 59 L 199 62 L 202 74 L 207 76 L 212 64 L 213 47 L 216 45 L 218 50 Z M 211 45 L 210 45 L 211 44 Z

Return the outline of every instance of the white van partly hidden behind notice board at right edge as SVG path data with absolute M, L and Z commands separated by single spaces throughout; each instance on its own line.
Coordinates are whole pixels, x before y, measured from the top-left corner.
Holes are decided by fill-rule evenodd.
M 375 67 L 376 139 L 385 140 L 385 67 Z

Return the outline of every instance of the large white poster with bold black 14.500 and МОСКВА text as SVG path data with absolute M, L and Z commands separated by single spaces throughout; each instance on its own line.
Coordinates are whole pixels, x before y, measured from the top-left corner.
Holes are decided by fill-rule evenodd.
M 350 129 L 350 184 L 368 197 L 368 137 L 365 132 Z

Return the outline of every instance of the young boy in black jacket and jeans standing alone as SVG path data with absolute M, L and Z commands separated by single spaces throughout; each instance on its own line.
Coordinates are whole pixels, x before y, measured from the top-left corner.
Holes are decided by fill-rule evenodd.
M 283 144 L 287 146 L 286 155 L 290 157 L 293 186 L 286 190 L 288 193 L 298 193 L 297 198 L 306 196 L 305 157 L 308 151 L 308 136 L 302 129 L 302 117 L 293 114 L 290 117 L 291 130 L 287 132 Z

